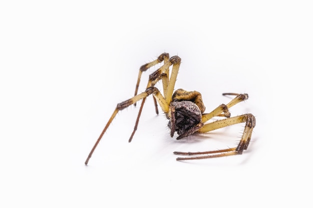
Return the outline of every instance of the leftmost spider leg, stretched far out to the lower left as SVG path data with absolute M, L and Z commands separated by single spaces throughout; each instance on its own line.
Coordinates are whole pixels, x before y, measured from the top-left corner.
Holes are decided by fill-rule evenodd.
M 114 119 L 114 117 L 116 116 L 116 114 L 118 113 L 118 111 L 121 111 L 125 108 L 127 108 L 128 106 L 138 102 L 141 99 L 145 99 L 147 96 L 151 95 L 151 94 L 155 94 L 155 96 L 158 99 L 161 99 L 161 94 L 159 93 L 158 89 L 155 87 L 149 87 L 145 90 L 145 92 L 142 92 L 126 101 L 123 101 L 121 103 L 118 103 L 115 110 L 113 111 L 111 117 L 109 118 L 108 122 L 106 123 L 103 131 L 101 132 L 100 136 L 98 137 L 98 139 L 96 140 L 94 146 L 92 147 L 86 161 L 85 161 L 85 165 L 88 164 L 89 159 L 91 158 L 96 146 L 98 145 L 98 143 L 100 142 L 101 138 L 103 137 L 105 131 L 107 130 L 108 126 L 111 124 L 112 120 Z M 163 103 L 165 103 L 165 100 L 163 99 Z M 161 106 L 162 108 L 164 108 L 166 110 L 166 106 Z

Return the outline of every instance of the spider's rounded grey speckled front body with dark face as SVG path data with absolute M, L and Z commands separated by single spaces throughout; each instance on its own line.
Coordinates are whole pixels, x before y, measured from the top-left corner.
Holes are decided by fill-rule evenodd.
M 201 111 L 199 107 L 191 101 L 171 102 L 171 112 L 168 122 L 170 136 L 177 132 L 181 139 L 189 136 L 201 127 Z

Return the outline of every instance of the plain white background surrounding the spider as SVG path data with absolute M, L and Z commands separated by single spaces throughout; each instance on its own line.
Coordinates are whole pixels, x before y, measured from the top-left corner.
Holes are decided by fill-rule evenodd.
M 2 1 L 0 207 L 308 207 L 307 2 Z M 256 117 L 248 150 L 176 162 L 173 151 L 235 147 L 244 124 L 176 141 L 150 98 L 133 141 L 131 106 L 85 166 L 139 67 L 162 52 L 181 57 L 175 88 L 201 92 L 206 111 L 223 92 L 249 94 L 231 108 Z

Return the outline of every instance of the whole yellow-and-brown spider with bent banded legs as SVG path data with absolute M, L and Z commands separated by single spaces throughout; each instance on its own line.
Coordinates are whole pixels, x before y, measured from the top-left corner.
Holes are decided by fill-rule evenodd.
M 128 100 L 125 100 L 117 104 L 115 110 L 113 111 L 111 117 L 106 123 L 99 138 L 97 139 L 93 148 L 91 149 L 85 161 L 85 165 L 88 164 L 88 161 L 91 158 L 92 153 L 94 152 L 104 132 L 106 131 L 106 129 L 108 128 L 116 114 L 132 104 L 136 105 L 136 102 L 142 100 L 133 131 L 128 140 L 128 142 L 131 142 L 132 137 L 135 131 L 137 130 L 143 104 L 145 102 L 145 99 L 149 95 L 153 95 L 156 114 L 158 114 L 157 108 L 158 103 L 162 111 L 164 112 L 166 118 L 168 119 L 167 126 L 170 129 L 170 136 L 173 137 L 174 133 L 176 132 L 178 135 L 178 137 L 176 138 L 177 140 L 180 140 L 181 138 L 187 137 L 194 133 L 204 133 L 219 128 L 223 128 L 226 126 L 230 126 L 233 124 L 245 123 L 243 134 L 237 147 L 206 152 L 173 152 L 173 154 L 175 155 L 193 156 L 193 157 L 178 157 L 176 158 L 177 161 L 198 160 L 237 155 L 242 154 L 243 150 L 247 149 L 250 142 L 252 130 L 255 126 L 255 118 L 252 114 L 249 113 L 240 116 L 230 117 L 230 112 L 228 111 L 228 109 L 234 106 L 235 104 L 248 99 L 248 95 L 237 93 L 223 93 L 222 95 L 232 95 L 235 97 L 228 104 L 226 105 L 221 104 L 210 113 L 204 113 L 205 106 L 202 102 L 202 97 L 199 92 L 185 91 L 183 89 L 177 89 L 176 91 L 174 91 L 174 85 L 176 82 L 180 61 L 181 59 L 178 56 L 172 56 L 169 58 L 168 53 L 162 53 L 157 57 L 157 59 L 149 63 L 146 63 L 140 67 L 134 96 Z M 148 68 L 158 63 L 162 63 L 162 65 L 160 68 L 158 68 L 156 71 L 149 75 L 145 91 L 140 94 L 137 94 L 142 72 L 146 71 Z M 170 66 L 171 72 L 169 69 Z M 159 89 L 154 87 L 154 85 L 160 80 L 163 86 L 163 95 L 161 94 Z M 224 119 L 216 120 L 211 123 L 205 123 L 213 117 L 224 117 Z

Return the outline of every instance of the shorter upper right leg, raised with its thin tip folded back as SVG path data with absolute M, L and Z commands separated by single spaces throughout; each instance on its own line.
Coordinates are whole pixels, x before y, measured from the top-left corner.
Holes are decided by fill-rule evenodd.
M 226 118 L 230 117 L 230 112 L 228 111 L 229 108 L 234 106 L 235 104 L 242 102 L 246 99 L 248 99 L 247 94 L 237 94 L 237 93 L 223 93 L 222 95 L 236 95 L 235 98 L 233 98 L 227 105 L 221 104 L 217 108 L 215 108 L 212 112 L 203 114 L 202 115 L 202 122 L 205 123 L 209 119 L 215 117 L 215 116 L 224 116 Z M 223 113 L 223 114 L 221 114 Z

